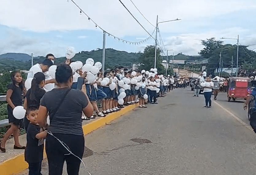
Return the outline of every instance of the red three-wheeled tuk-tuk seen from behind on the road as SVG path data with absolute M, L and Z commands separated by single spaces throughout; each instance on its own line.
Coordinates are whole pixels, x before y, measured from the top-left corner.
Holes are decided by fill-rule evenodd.
M 250 78 L 232 77 L 229 79 L 227 89 L 227 101 L 230 101 L 231 98 L 234 101 L 236 99 L 246 100 L 250 93 Z

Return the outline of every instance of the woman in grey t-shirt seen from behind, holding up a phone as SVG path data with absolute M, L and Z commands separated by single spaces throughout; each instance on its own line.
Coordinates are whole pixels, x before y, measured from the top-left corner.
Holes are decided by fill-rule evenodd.
M 84 151 L 82 112 L 90 117 L 93 107 L 86 95 L 85 85 L 82 86 L 82 91 L 70 89 L 73 83 L 73 73 L 69 65 L 60 64 L 57 67 L 56 82 L 56 89 L 46 92 L 41 99 L 37 115 L 38 124 L 41 127 L 47 127 L 45 120 L 49 112 L 48 131 L 54 135 L 47 134 L 45 143 L 49 175 L 61 175 L 64 161 L 67 163 L 68 174 L 78 175 L 80 160 L 70 154 L 56 138 L 82 159 Z

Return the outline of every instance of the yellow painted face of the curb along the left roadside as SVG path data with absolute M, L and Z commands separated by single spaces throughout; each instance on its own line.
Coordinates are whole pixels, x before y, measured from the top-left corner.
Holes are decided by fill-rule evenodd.
M 105 124 L 115 120 L 119 116 L 131 111 L 136 108 L 138 104 L 129 105 L 118 112 L 111 113 L 106 117 L 99 118 L 89 124 L 83 125 L 83 134 L 87 135 L 91 131 L 98 129 L 99 127 L 104 126 Z M 44 150 L 44 158 L 46 158 L 46 153 Z M 10 158 L 0 164 L 0 174 L 1 175 L 14 175 L 20 173 L 29 167 L 28 163 L 25 162 L 24 153 L 15 156 L 14 158 Z

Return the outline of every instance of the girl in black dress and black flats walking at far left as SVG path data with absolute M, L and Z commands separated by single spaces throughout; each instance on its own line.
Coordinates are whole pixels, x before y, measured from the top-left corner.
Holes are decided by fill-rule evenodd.
M 8 103 L 8 119 L 11 124 L 10 129 L 5 133 L 2 142 L 0 143 L 0 150 L 6 152 L 5 144 L 7 139 L 11 134 L 14 136 L 14 149 L 25 149 L 25 146 L 21 146 L 19 143 L 19 133 L 18 127 L 23 119 L 16 119 L 13 116 L 13 109 L 16 106 L 22 105 L 22 95 L 26 94 L 26 89 L 24 88 L 21 73 L 18 71 L 13 71 L 11 73 L 12 84 L 8 86 L 6 93 L 6 101 Z

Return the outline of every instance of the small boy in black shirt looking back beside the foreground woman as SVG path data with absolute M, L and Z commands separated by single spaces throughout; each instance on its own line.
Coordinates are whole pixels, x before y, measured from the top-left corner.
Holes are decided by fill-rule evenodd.
M 27 146 L 25 148 L 25 161 L 29 164 L 29 175 L 41 175 L 41 163 L 44 152 L 44 138 L 47 132 L 37 124 L 37 107 L 27 109 L 29 125 L 27 129 Z

